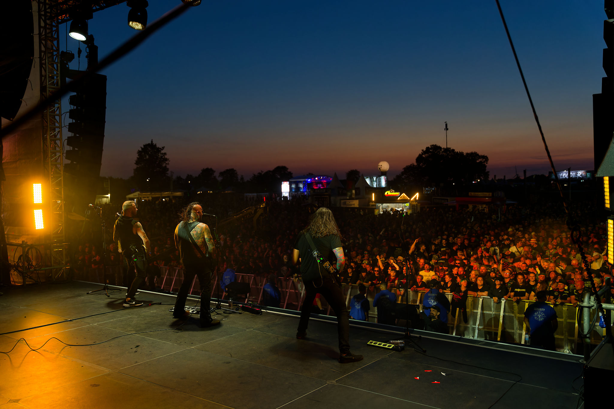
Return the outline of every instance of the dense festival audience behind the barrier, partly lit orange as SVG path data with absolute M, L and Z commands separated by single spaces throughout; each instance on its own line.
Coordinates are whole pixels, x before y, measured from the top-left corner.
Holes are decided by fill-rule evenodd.
M 202 202 L 203 211 L 220 215 L 220 221 L 252 204 L 235 194 L 210 195 Z M 173 231 L 182 205 L 176 201 L 138 204 L 138 217 L 152 242 L 153 256 L 158 256 L 158 266 L 179 266 Z M 298 269 L 290 262 L 290 254 L 309 209 L 300 201 L 270 201 L 255 230 L 251 218 L 220 223 L 221 270 L 269 277 L 272 284 L 274 277 L 293 277 Z M 352 318 L 367 316 L 368 303 L 363 302 L 367 291 L 386 291 L 386 297 L 374 300 L 375 307 L 397 302 L 406 289 L 426 291 L 424 302 L 436 307 L 433 310 L 444 322 L 447 313 L 456 314 L 457 308 L 466 320 L 467 296 L 491 297 L 495 303 L 503 299 L 518 302 L 535 300 L 538 292 L 545 291 L 550 304 L 577 305 L 593 283 L 599 289 L 612 277 L 605 262 L 607 228 L 599 209 L 599 204 L 585 203 L 574 210 L 589 262 L 585 269 L 577 245 L 570 240 L 564 212 L 556 204 L 513 205 L 500 213 L 427 207 L 414 215 L 333 208 L 346 253 L 341 282 L 359 287 L 352 299 Z M 103 208 L 109 231 L 117 211 L 119 205 Z M 215 219 L 204 221 L 215 226 Z M 91 244 L 96 242 L 97 225 L 92 222 L 91 226 L 74 252 L 72 262 L 77 269 L 102 264 L 99 244 Z M 106 254 L 107 266 L 119 264 L 120 254 L 110 234 Z M 441 297 L 446 293 L 451 294 L 447 304 L 446 297 Z

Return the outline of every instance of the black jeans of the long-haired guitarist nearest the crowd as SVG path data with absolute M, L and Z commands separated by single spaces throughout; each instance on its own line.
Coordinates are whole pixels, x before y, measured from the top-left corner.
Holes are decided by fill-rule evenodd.
M 319 279 L 315 280 L 316 285 L 319 284 Z M 316 294 L 321 294 L 328 302 L 333 311 L 337 315 L 337 332 L 339 334 L 339 351 L 342 354 L 349 352 L 349 313 L 348 307 L 343 298 L 343 292 L 335 282 L 326 277 L 322 280 L 322 286 L 316 288 L 314 281 L 304 281 L 305 284 L 305 300 L 301 307 L 301 319 L 298 321 L 298 332 L 307 331 L 309 324 L 309 315 L 311 314 L 311 305 L 316 299 Z

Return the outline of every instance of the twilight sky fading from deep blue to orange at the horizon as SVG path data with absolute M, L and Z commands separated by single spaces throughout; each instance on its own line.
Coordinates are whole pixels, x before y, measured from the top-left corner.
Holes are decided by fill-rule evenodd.
M 149 0 L 149 21 L 178 2 Z M 501 2 L 554 164 L 593 169 L 603 2 Z M 89 21 L 101 58 L 136 33 L 128 10 Z M 343 178 L 383 160 L 395 175 L 445 145 L 444 121 L 448 145 L 488 155 L 491 177 L 549 168 L 494 0 L 203 1 L 102 74 L 102 176 L 130 176 L 150 139 L 175 175 L 285 165 Z

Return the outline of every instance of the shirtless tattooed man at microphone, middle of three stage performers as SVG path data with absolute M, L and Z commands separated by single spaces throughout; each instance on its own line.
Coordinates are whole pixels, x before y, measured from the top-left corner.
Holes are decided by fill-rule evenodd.
M 200 326 L 212 327 L 220 323 L 211 318 L 211 275 L 216 260 L 216 247 L 209 226 L 201 223 L 203 207 L 198 202 L 188 204 L 183 208 L 181 222 L 175 228 L 175 247 L 179 250 L 181 263 L 184 265 L 184 281 L 179 288 L 173 316 L 184 318 L 190 315 L 185 311 L 185 300 L 194 276 L 200 283 Z

